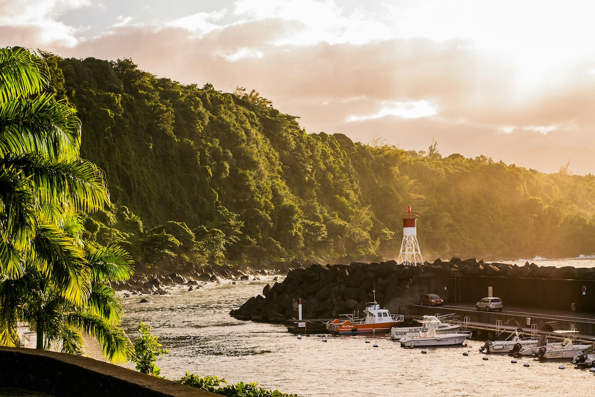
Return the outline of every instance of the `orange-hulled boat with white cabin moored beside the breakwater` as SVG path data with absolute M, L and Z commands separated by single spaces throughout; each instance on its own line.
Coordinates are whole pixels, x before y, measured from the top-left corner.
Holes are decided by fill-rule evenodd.
M 355 318 L 353 314 L 342 314 L 340 318 L 327 321 L 328 331 L 338 334 L 355 335 L 359 333 L 386 333 L 392 327 L 402 324 L 405 316 L 390 314 L 387 309 L 381 309 L 377 302 L 370 302 L 364 309 L 365 317 Z

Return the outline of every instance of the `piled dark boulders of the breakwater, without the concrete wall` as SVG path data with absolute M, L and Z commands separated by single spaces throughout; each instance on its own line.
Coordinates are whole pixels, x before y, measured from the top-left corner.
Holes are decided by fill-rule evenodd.
M 529 262 L 519 266 L 485 263 L 475 258 L 438 259 L 421 266 L 405 266 L 395 261 L 354 262 L 349 265 L 312 264 L 306 269 L 290 270 L 283 282 L 265 286 L 262 295 L 248 299 L 242 307 L 232 310 L 230 315 L 240 320 L 279 323 L 295 319 L 301 299 L 303 318 L 337 318 L 342 313 L 362 312 L 374 298 L 380 305 L 386 304 L 399 297 L 418 277 L 452 277 L 455 274 L 595 280 L 595 268 L 540 267 Z

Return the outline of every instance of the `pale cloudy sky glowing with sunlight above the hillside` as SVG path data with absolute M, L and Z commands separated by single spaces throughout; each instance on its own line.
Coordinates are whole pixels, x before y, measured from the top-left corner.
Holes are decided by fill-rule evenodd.
M 0 46 L 254 89 L 308 133 L 586 175 L 593 15 L 585 0 L 0 0 Z

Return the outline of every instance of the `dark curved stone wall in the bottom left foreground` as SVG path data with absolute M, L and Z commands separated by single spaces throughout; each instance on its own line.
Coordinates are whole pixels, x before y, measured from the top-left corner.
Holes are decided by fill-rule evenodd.
M 88 357 L 4 347 L 0 347 L 0 385 L 57 397 L 218 396 Z

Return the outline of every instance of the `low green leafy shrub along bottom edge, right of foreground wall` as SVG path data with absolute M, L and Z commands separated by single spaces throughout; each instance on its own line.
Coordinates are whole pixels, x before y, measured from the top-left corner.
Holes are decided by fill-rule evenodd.
M 239 382 L 230 385 L 225 379 L 217 376 L 200 377 L 186 373 L 177 382 L 229 397 L 297 397 L 296 394 L 281 393 L 279 390 L 264 390 L 262 387 L 258 387 L 258 383 L 254 382 Z

